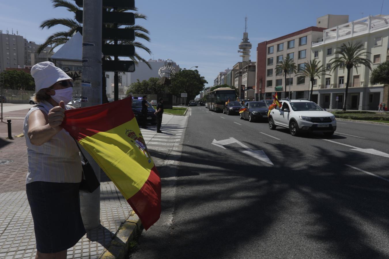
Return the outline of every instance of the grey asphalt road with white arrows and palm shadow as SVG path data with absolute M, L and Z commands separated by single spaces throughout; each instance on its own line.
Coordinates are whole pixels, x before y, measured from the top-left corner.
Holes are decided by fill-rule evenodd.
M 161 172 L 161 219 L 130 258 L 389 258 L 388 135 L 338 121 L 293 137 L 194 107 L 178 170 Z

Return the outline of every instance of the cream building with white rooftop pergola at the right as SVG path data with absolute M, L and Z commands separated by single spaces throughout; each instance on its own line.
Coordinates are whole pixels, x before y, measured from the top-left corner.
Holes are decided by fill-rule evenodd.
M 389 15 L 368 16 L 350 23 L 344 23 L 324 30 L 317 42 L 312 42 L 311 55 L 326 67 L 331 67 L 331 59 L 337 48 L 348 43 L 362 43 L 372 69 L 389 59 Z M 328 71 L 329 75 L 315 79 L 313 100 L 324 108 L 343 107 L 347 69 Z M 388 88 L 371 85 L 371 71 L 365 66 L 353 68 L 347 94 L 347 109 L 377 110 L 380 102 L 389 102 Z

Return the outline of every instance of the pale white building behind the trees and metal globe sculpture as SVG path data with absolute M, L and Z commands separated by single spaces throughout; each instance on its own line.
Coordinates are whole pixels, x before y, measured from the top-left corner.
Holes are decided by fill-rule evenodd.
M 165 65 L 165 60 L 149 59 L 148 62 L 152 69 L 150 69 L 146 63 L 139 62 L 137 65 L 135 65 L 135 72 L 119 73 L 119 98 L 126 96 L 126 92 L 131 83 L 135 83 L 137 80 L 142 82 L 143 80 L 149 80 L 151 77 L 159 77 L 158 70 L 161 68 L 161 66 Z M 173 63 L 173 66 L 176 72 L 180 70 L 180 66 L 178 66 L 176 63 Z M 107 97 L 114 98 L 114 72 L 106 72 L 105 78 L 107 84 Z

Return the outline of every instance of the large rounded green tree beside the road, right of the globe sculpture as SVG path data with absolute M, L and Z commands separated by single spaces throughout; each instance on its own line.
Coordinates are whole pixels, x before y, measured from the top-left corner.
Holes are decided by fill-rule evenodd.
M 204 76 L 200 76 L 198 70 L 181 69 L 172 78 L 172 84 L 169 86 L 169 91 L 175 96 L 180 96 L 181 93 L 187 93 L 188 100 L 194 100 L 196 95 L 204 89 L 204 85 L 208 83 Z

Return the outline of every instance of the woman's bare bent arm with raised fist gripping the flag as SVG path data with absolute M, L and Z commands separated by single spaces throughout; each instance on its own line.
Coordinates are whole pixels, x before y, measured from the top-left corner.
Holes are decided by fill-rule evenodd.
M 27 135 L 31 144 L 40 146 L 62 130 L 61 123 L 65 116 L 64 108 L 64 103 L 61 101 L 60 106 L 51 109 L 48 115 L 40 110 L 33 111 L 30 114 L 27 122 Z

